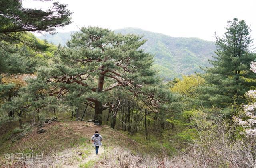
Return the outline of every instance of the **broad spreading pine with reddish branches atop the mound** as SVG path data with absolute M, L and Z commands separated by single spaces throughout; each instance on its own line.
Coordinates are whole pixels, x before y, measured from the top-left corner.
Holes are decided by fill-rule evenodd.
M 168 90 L 157 89 L 159 81 L 150 68 L 153 55 L 139 49 L 144 43 L 137 35 L 115 34 L 98 27 L 82 28 L 72 35 L 68 47 L 60 48 L 50 66 L 39 70 L 36 81 L 47 80 L 44 90 L 51 96 L 77 107 L 93 107 L 100 124 L 102 111 L 111 108 L 115 96 L 132 94 L 154 111 L 170 100 L 170 94 Z

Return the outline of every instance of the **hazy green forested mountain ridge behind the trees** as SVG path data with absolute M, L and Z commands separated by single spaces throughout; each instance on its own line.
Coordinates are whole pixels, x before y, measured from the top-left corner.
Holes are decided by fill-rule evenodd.
M 155 55 L 154 68 L 166 80 L 174 77 L 180 78 L 182 74 L 202 72 L 200 66 L 210 66 L 208 59 L 212 59 L 212 56 L 215 55 L 216 47 L 212 41 L 198 38 L 170 37 L 137 28 L 117 29 L 115 32 L 144 35 L 144 39 L 148 41 L 142 46 L 142 49 Z M 71 33 L 73 32 L 38 37 L 54 44 L 65 45 L 66 41 L 70 39 Z

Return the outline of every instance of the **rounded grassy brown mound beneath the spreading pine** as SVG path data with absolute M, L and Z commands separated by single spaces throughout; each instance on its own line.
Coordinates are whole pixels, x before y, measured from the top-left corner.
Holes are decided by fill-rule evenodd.
M 16 127 L 16 124 L 9 127 L 9 130 L 2 132 L 0 135 L 0 163 L 4 160 L 5 153 L 44 153 L 45 161 L 48 163 L 49 158 L 52 158 L 53 154 L 57 154 L 64 157 L 66 162 L 60 162 L 63 158 L 55 158 L 51 160 L 55 166 L 62 166 L 63 164 L 79 164 L 86 155 L 90 154 L 92 150 L 92 144 L 90 137 L 94 134 L 94 130 L 100 130 L 100 134 L 104 138 L 102 143 L 106 149 L 107 154 L 112 153 L 112 149 L 122 149 L 126 151 L 136 151 L 139 144 L 136 141 L 128 138 L 125 134 L 119 131 L 110 129 L 107 126 L 96 126 L 92 123 L 83 121 L 69 121 L 69 122 L 54 122 L 50 125 L 45 125 L 47 130 L 45 133 L 36 133 L 36 127 L 32 129 L 22 139 L 11 143 L 10 135 L 12 129 Z M 4 129 L 3 129 L 4 130 Z M 5 129 L 6 130 L 6 129 Z M 82 153 L 78 156 L 77 153 Z M 68 156 L 66 156 L 66 153 Z M 105 157 L 106 159 L 107 157 Z M 48 163 L 50 164 L 50 163 Z M 92 164 L 91 162 L 88 164 Z M 103 162 L 102 162 L 103 164 Z M 0 164 L 1 165 L 1 164 Z M 103 166 L 104 167 L 104 166 Z

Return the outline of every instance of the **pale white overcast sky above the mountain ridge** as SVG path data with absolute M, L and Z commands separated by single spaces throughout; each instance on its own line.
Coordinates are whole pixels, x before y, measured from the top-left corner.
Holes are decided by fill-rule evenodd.
M 222 35 L 226 22 L 246 20 L 256 39 L 256 0 L 59 0 L 73 12 L 71 25 L 58 31 L 82 26 L 109 29 L 137 27 L 172 37 L 198 37 L 213 41 Z M 52 2 L 50 2 L 52 3 Z M 49 2 L 23 1 L 24 7 L 42 8 Z M 256 40 L 254 40 L 256 41 Z M 255 43 L 255 42 L 254 42 Z

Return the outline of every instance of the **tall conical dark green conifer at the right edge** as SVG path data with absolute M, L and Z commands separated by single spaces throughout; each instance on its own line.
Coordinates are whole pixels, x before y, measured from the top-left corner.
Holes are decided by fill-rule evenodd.
M 216 57 L 210 61 L 213 67 L 205 68 L 203 75 L 207 85 L 200 88 L 204 105 L 219 108 L 231 107 L 244 102 L 244 94 L 256 85 L 250 63 L 252 53 L 250 28 L 244 20 L 228 21 L 226 33 L 216 37 Z

